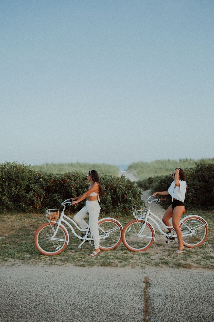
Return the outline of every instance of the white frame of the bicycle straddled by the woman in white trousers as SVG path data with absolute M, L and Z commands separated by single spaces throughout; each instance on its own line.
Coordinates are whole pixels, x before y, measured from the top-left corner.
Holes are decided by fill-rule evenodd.
M 70 200 L 69 200 L 69 199 L 65 200 L 65 201 L 61 204 L 61 205 L 63 205 L 63 210 L 62 210 L 62 212 L 61 212 L 61 215 L 60 215 L 59 219 L 58 219 L 56 222 L 53 222 L 53 223 L 57 223 L 57 224 L 58 224 L 58 225 L 57 225 L 57 229 L 56 229 L 56 231 L 54 230 L 54 228 L 52 227 L 51 222 L 50 222 L 51 228 L 52 228 L 52 229 L 53 229 L 53 231 L 54 231 L 54 234 L 53 234 L 53 236 L 50 238 L 50 240 L 62 241 L 62 240 L 61 240 L 61 239 L 59 239 L 59 238 L 55 238 L 55 236 L 56 236 L 56 234 L 57 234 L 57 232 L 58 232 L 59 226 L 61 225 L 61 226 L 66 230 L 66 232 L 67 232 L 68 240 L 67 240 L 66 242 L 67 242 L 67 244 L 68 244 L 68 242 L 69 242 L 69 233 L 68 233 L 68 231 L 67 231 L 67 228 L 62 224 L 62 222 L 63 222 L 63 223 L 65 223 L 66 225 L 68 225 L 68 227 L 71 229 L 71 231 L 73 232 L 73 234 L 74 234 L 77 238 L 79 238 L 79 239 L 82 239 L 82 240 L 83 240 L 83 241 L 78 245 L 78 248 L 81 248 L 81 246 L 82 246 L 82 244 L 83 244 L 83 243 L 85 243 L 86 241 L 92 241 L 92 240 L 93 240 L 92 235 L 91 235 L 91 237 L 87 237 L 88 232 L 89 232 L 89 229 L 90 229 L 90 224 L 88 225 L 88 227 L 87 227 L 86 229 L 81 229 L 81 228 L 79 228 L 79 227 L 78 227 L 78 225 L 75 223 L 75 221 L 74 221 L 73 219 L 71 219 L 71 218 L 69 218 L 68 216 L 66 216 L 66 215 L 65 215 L 65 213 L 64 213 L 64 212 L 65 212 L 66 204 L 71 204 L 71 202 L 70 202 Z M 84 232 L 85 236 L 84 236 L 84 237 L 82 237 L 82 236 L 78 235 L 78 234 L 75 232 L 74 228 L 71 226 L 71 224 L 70 224 L 70 223 L 68 223 L 68 221 L 67 221 L 67 220 L 65 220 L 64 218 L 66 218 L 68 221 L 70 221 L 71 223 L 73 223 L 73 224 L 75 225 L 75 227 L 76 227 L 79 231 Z M 110 219 L 110 218 L 109 218 L 109 217 L 106 217 L 105 219 Z M 98 221 L 98 223 L 99 223 L 101 220 L 103 220 L 103 219 L 100 219 L 100 220 Z M 114 220 L 120 224 L 120 222 L 119 222 L 118 220 L 116 220 L 116 219 L 114 219 Z M 120 224 L 120 227 L 122 227 L 122 226 L 121 226 L 121 224 Z M 101 227 L 99 227 L 99 229 L 100 229 L 100 230 L 101 230 L 101 232 L 103 233 L 103 235 L 101 235 L 101 236 L 100 236 L 100 239 L 104 239 L 104 238 L 107 238 L 107 237 L 109 237 L 109 236 L 110 236 L 110 234 L 109 234 L 109 233 L 107 233 L 107 232 L 105 232 Z M 118 229 L 118 228 L 111 229 L 109 232 L 113 232 L 113 231 L 114 231 L 114 230 L 116 230 L 116 229 Z

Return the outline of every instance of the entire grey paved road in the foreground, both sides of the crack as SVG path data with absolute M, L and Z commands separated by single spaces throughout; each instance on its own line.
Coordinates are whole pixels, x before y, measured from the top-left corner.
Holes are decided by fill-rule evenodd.
M 141 322 L 145 276 L 150 322 L 214 320 L 208 270 L 15 265 L 1 267 L 0 321 Z

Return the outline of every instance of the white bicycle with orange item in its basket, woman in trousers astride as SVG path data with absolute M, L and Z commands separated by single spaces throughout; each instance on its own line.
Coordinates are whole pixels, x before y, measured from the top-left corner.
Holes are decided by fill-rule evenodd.
M 90 243 L 93 242 L 90 224 L 88 228 L 81 229 L 73 219 L 65 215 L 66 206 L 72 206 L 71 200 L 67 199 L 61 205 L 63 206 L 61 215 L 59 214 L 59 209 L 46 210 L 48 223 L 44 223 L 36 231 L 34 237 L 35 246 L 43 255 L 58 255 L 64 251 L 69 242 L 69 233 L 64 224 L 81 240 L 78 248 L 81 248 L 87 241 Z M 74 227 L 69 222 L 81 232 L 81 235 L 75 232 Z M 110 217 L 100 219 L 98 221 L 98 227 L 100 233 L 100 249 L 102 251 L 110 251 L 119 246 L 123 227 L 118 220 Z

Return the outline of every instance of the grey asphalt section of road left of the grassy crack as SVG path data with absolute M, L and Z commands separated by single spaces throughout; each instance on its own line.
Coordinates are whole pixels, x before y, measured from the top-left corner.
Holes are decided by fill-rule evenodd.
M 142 272 L 117 268 L 1 268 L 1 321 L 141 321 Z

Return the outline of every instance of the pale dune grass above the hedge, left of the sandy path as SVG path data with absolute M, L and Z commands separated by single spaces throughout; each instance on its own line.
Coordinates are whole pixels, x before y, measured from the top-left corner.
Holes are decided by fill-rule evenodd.
M 109 165 L 106 163 L 44 163 L 41 165 L 31 166 L 35 171 L 42 171 L 47 173 L 61 173 L 68 172 L 85 172 L 96 170 L 102 175 L 115 175 L 118 176 L 119 168 L 117 166 Z

